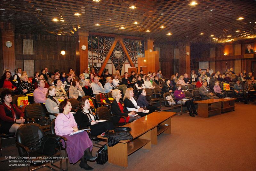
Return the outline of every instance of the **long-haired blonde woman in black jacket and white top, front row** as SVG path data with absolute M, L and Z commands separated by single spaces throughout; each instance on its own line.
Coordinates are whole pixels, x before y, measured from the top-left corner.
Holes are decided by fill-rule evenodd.
M 133 95 L 133 88 L 127 88 L 124 94 L 124 107 L 128 111 L 138 112 L 138 115 L 140 115 L 141 117 L 148 115 L 147 113 L 143 113 L 144 109 L 138 106 L 136 100 L 133 98 Z

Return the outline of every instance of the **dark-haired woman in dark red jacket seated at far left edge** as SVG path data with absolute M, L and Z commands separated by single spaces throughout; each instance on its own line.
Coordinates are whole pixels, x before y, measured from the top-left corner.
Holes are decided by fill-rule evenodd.
M 12 91 L 6 89 L 0 95 L 0 124 L 1 133 L 16 133 L 17 129 L 25 122 L 24 113 L 12 103 Z

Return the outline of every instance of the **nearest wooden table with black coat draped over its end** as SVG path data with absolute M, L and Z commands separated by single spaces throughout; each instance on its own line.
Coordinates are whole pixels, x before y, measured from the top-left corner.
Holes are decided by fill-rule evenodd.
M 144 116 L 145 117 L 145 116 Z M 140 148 L 151 150 L 151 130 L 156 129 L 156 124 L 147 122 L 132 122 L 124 126 L 132 128 L 132 140 L 121 140 L 118 144 L 108 146 L 108 163 L 128 167 L 128 155 Z M 103 138 L 98 136 L 98 138 Z

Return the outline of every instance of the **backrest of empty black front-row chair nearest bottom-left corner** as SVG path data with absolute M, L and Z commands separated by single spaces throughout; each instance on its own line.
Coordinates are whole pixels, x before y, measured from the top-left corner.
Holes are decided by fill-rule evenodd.
M 37 123 L 27 123 L 21 125 L 16 132 L 16 141 L 28 147 L 32 152 L 40 148 L 40 140 L 44 136 L 44 131 Z M 28 156 L 23 148 L 18 147 L 20 156 Z

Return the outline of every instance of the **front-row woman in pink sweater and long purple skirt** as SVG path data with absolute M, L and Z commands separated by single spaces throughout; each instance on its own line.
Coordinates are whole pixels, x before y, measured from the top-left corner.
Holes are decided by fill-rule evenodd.
M 69 134 L 78 131 L 77 124 L 73 114 L 71 103 L 64 99 L 60 102 L 60 114 L 55 119 L 56 135 L 67 138 L 67 152 L 69 163 L 76 163 L 80 160 L 79 166 L 85 170 L 93 169 L 87 164 L 87 160 L 96 160 L 97 157 L 92 156 L 92 141 L 87 132 L 83 131 L 78 134 L 69 136 Z M 62 142 L 64 144 L 64 142 Z

